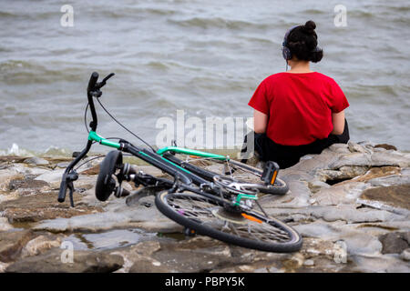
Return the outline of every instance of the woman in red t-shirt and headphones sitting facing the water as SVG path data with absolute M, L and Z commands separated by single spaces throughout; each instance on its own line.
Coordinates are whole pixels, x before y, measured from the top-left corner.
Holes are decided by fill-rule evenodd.
M 282 55 L 291 70 L 264 79 L 249 102 L 254 109 L 255 152 L 261 161 L 274 161 L 281 168 L 349 140 L 344 118 L 349 103 L 342 89 L 333 78 L 310 69 L 310 62 L 323 57 L 315 28 L 308 21 L 286 33 Z M 245 145 L 252 142 L 250 136 Z

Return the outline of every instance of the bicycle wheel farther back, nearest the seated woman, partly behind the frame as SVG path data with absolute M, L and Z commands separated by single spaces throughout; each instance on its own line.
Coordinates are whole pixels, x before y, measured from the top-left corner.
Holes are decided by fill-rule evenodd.
M 276 178 L 273 185 L 266 185 L 261 181 L 262 170 L 254 166 L 249 166 L 235 160 L 220 161 L 212 158 L 201 158 L 185 156 L 185 159 L 179 159 L 177 156 L 164 156 L 179 166 L 185 167 L 190 172 L 201 176 L 210 182 L 213 176 L 223 175 L 245 184 L 252 184 L 261 193 L 273 195 L 285 195 L 289 187 L 279 177 Z M 179 156 L 183 158 L 182 156 Z

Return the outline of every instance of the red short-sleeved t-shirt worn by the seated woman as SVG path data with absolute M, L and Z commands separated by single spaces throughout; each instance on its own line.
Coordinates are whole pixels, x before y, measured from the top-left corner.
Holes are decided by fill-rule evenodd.
M 269 115 L 266 135 L 273 142 L 301 146 L 326 138 L 333 131 L 332 113 L 349 103 L 331 77 L 313 72 L 268 76 L 248 105 Z

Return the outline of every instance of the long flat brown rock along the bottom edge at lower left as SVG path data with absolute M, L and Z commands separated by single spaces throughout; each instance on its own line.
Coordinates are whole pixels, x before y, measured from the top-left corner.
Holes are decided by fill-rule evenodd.
M 65 249 L 54 248 L 39 256 L 29 256 L 7 266 L 7 273 L 109 273 L 123 264 L 122 256 L 75 250 L 70 262 Z

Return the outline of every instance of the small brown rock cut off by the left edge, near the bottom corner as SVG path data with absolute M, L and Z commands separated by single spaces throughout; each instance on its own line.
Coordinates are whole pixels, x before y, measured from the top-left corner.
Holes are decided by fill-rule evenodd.
M 14 261 L 33 236 L 30 230 L 0 233 L 0 261 L 5 263 Z

